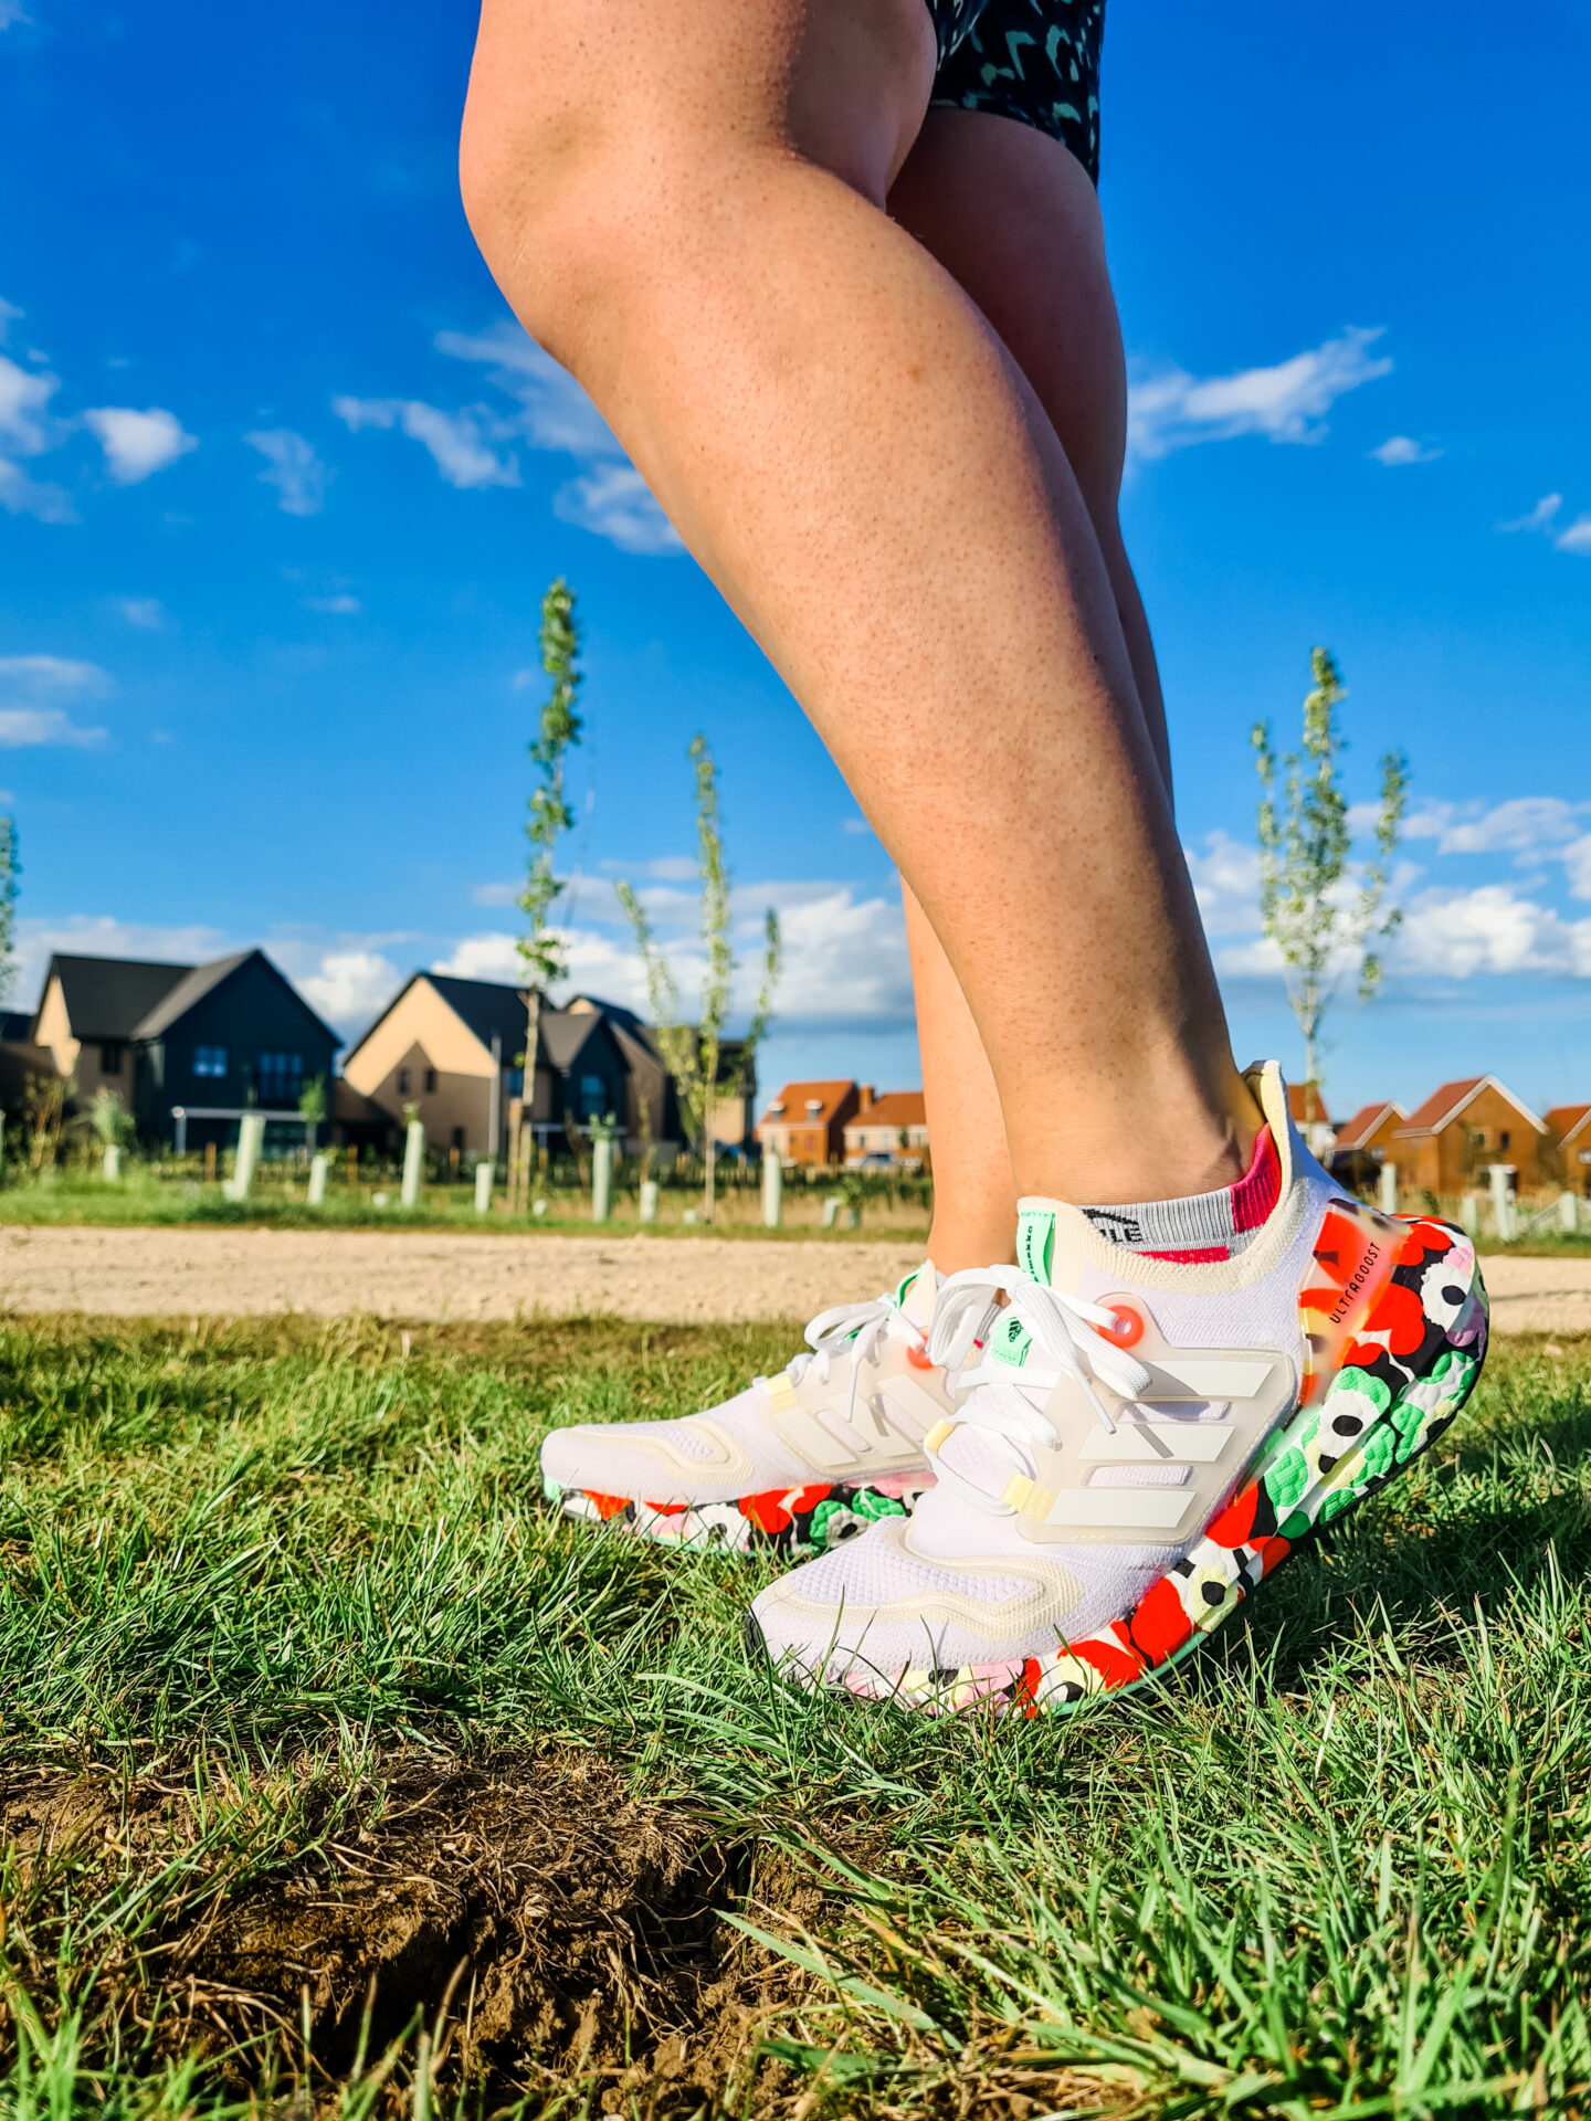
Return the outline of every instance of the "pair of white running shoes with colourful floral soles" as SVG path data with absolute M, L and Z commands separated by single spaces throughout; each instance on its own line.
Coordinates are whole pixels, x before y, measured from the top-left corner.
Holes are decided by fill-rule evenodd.
M 747 1642 L 804 1688 L 1035 1716 L 1165 1673 L 1449 1427 L 1487 1345 L 1468 1237 L 1349 1198 L 1279 1069 L 1247 1080 L 1279 1188 L 1235 1256 L 1022 1200 L 1014 1266 L 825 1311 L 706 1413 L 556 1430 L 547 1495 L 789 1555 Z

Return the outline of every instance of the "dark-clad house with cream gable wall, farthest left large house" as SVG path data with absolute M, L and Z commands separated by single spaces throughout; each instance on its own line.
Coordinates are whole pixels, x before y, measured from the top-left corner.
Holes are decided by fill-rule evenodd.
M 78 1101 L 115 1090 L 144 1141 L 197 1147 L 231 1141 L 244 1111 L 297 1116 L 339 1039 L 263 950 L 240 950 L 210 965 L 57 954 L 34 1044 Z

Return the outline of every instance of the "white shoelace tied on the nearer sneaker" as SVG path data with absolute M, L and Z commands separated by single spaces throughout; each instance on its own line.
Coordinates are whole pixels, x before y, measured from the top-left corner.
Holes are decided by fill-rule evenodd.
M 1006 1304 L 1001 1304 L 1001 1296 L 1006 1296 Z M 974 1347 L 986 1340 L 995 1319 L 1001 1324 L 1014 1319 L 1033 1336 L 1027 1360 L 1014 1368 L 984 1355 L 974 1368 L 963 1368 Z M 1099 1398 L 1095 1379 L 1122 1400 L 1137 1400 L 1150 1387 L 1150 1372 L 1143 1364 L 1107 1332 L 1099 1332 L 1114 1321 L 1116 1315 L 1101 1304 L 1084 1302 L 1065 1290 L 1052 1290 L 1044 1281 L 1031 1281 L 1014 1266 L 969 1266 L 959 1275 L 948 1275 L 940 1283 L 927 1343 L 933 1362 L 961 1372 L 955 1389 L 965 1398 L 946 1419 L 952 1427 L 986 1434 L 1001 1457 L 1008 1457 L 1016 1472 L 1027 1474 L 1031 1466 L 1022 1457 L 1022 1442 L 1044 1444 L 1050 1451 L 1061 1444 L 1054 1423 L 1044 1415 L 1044 1402 L 1067 1377 L 1088 1396 L 1095 1413 L 1114 1434 L 1116 1421 Z M 1012 1514 L 1010 1504 L 974 1487 L 952 1466 L 946 1466 L 938 1451 L 931 1451 L 929 1457 L 940 1480 L 965 1495 L 967 1502 L 997 1517 Z

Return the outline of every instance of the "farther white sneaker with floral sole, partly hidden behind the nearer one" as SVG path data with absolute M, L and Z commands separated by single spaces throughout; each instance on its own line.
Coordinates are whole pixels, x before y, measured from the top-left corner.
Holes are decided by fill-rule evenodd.
M 933 1485 L 923 1438 L 955 1404 L 927 1353 L 938 1287 L 929 1264 L 893 1296 L 819 1313 L 810 1353 L 706 1413 L 554 1430 L 547 1495 L 566 1517 L 736 1553 L 823 1550 L 904 1521 Z

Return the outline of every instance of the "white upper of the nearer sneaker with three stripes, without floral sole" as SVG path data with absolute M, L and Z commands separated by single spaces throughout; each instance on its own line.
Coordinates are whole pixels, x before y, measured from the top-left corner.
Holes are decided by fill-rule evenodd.
M 1279 1071 L 1249 1084 L 1281 1184 L 1235 1258 L 1158 1260 L 1080 1209 L 1025 1200 L 1022 1268 L 940 1283 L 931 1353 L 959 1370 L 959 1404 L 927 1438 L 938 1487 L 762 1593 L 776 1663 L 838 1678 L 1044 1657 L 1126 1612 L 1203 1536 L 1298 1404 L 1298 1296 L 1343 1200 Z M 974 1345 L 982 1362 L 961 1370 Z

